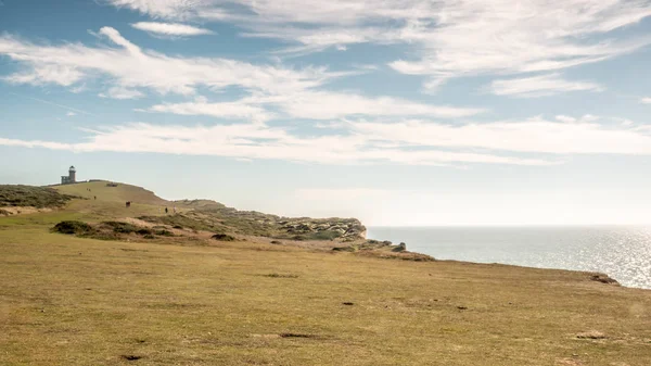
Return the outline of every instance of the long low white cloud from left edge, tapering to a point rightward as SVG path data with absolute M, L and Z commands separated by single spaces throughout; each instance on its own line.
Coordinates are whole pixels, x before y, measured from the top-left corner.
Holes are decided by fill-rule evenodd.
M 216 126 L 156 126 L 133 124 L 87 130 L 87 142 L 58 143 L 0 138 L 0 144 L 69 150 L 75 152 L 150 152 L 214 155 L 233 159 L 285 160 L 320 164 L 397 163 L 448 165 L 458 162 L 485 164 L 549 165 L 553 161 L 425 149 L 418 151 L 375 146 L 357 134 L 299 137 L 263 124 Z

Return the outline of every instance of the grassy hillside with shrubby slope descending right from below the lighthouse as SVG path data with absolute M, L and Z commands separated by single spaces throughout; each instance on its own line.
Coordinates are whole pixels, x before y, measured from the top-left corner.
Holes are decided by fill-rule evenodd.
M 73 209 L 93 213 L 91 219 L 95 222 L 128 216 L 153 224 L 183 226 L 196 230 L 291 240 L 357 241 L 366 235 L 366 228 L 355 218 L 291 218 L 239 211 L 209 200 L 166 201 L 149 190 L 125 184 L 111 187 L 106 181 L 97 181 L 54 188 L 62 193 L 87 198 L 86 202 L 75 202 Z M 127 201 L 132 202 L 129 209 L 124 207 Z M 178 215 L 165 215 L 165 207 L 170 214 L 173 207 L 177 207 Z

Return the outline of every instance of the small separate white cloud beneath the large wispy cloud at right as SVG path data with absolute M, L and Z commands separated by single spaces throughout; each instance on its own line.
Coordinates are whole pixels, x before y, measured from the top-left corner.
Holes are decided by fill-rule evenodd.
M 546 74 L 524 78 L 494 80 L 490 91 L 497 96 L 535 98 L 553 96 L 566 91 L 602 91 L 604 88 L 596 83 L 570 81 L 560 74 Z

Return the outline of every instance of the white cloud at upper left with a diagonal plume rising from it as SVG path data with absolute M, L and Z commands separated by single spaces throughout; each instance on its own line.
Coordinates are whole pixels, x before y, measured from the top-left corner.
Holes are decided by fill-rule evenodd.
M 0 54 L 31 68 L 5 79 L 16 84 L 71 86 L 85 75 L 92 75 L 106 77 L 114 87 L 150 89 L 163 94 L 192 94 L 200 86 L 214 90 L 238 86 L 280 93 L 316 87 L 345 75 L 323 67 L 292 70 L 228 59 L 168 56 L 142 50 L 111 27 L 101 28 L 100 36 L 120 48 L 92 48 L 79 43 L 44 46 L 0 36 Z

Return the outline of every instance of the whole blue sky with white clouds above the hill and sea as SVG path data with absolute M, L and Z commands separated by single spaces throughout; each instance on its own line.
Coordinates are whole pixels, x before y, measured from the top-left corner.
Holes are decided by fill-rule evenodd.
M 651 224 L 651 0 L 0 0 L 0 184 Z

